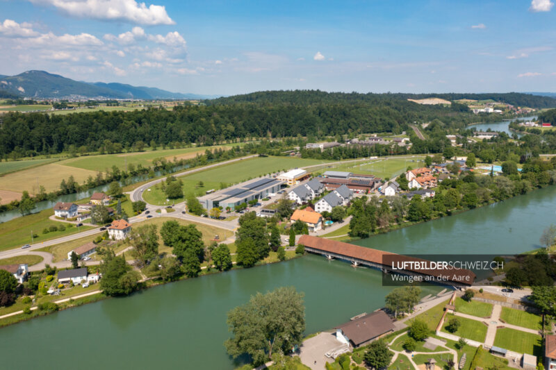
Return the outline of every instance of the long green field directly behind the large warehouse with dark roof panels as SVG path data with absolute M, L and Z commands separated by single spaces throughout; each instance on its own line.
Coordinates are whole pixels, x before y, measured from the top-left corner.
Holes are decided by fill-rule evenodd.
M 180 180 L 183 182 L 183 193 L 186 196 L 189 194 L 202 196 L 207 190 L 219 190 L 221 183 L 229 186 L 282 169 L 318 165 L 322 162 L 324 161 L 291 157 L 253 158 L 207 169 L 206 171 L 200 171 L 189 176 L 181 176 Z M 203 182 L 204 185 L 202 187 L 198 187 L 199 181 Z M 150 191 L 147 190 L 143 193 L 143 197 L 147 203 L 156 205 L 180 203 L 183 201 L 183 198 L 179 198 L 170 199 L 169 202 L 166 202 L 166 195 L 161 185 L 154 185 L 150 188 Z

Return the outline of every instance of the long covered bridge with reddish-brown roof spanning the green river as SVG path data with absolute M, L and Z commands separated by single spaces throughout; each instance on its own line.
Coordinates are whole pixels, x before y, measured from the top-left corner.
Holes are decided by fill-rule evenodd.
M 441 283 L 461 288 L 473 284 L 477 277 L 473 271 L 468 269 L 456 269 L 443 266 L 439 262 L 336 242 L 336 240 L 322 237 L 303 235 L 300 237 L 298 244 L 302 244 L 305 251 L 324 255 L 329 260 L 345 260 L 351 262 L 354 267 L 373 267 L 381 270 L 384 274 L 411 276 L 413 281 Z M 404 280 L 392 276 L 390 281 L 395 283 Z

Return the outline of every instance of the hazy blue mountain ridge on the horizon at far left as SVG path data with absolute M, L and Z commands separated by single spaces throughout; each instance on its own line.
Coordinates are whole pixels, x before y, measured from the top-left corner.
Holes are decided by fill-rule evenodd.
M 0 89 L 6 94 L 31 98 L 58 99 L 210 99 L 214 96 L 168 92 L 156 87 L 136 87 L 122 83 L 74 81 L 44 71 L 27 71 L 17 76 L 0 75 Z

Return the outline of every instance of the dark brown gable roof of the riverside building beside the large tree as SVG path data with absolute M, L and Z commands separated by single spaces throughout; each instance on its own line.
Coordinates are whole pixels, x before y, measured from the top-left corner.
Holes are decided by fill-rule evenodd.
M 336 326 L 350 338 L 355 346 L 394 330 L 392 319 L 384 311 L 366 314 L 359 319 Z

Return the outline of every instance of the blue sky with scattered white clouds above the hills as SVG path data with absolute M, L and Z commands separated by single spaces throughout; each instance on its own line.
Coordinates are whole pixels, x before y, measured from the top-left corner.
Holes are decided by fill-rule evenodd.
M 555 0 L 0 0 L 0 74 L 198 94 L 556 91 Z

